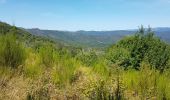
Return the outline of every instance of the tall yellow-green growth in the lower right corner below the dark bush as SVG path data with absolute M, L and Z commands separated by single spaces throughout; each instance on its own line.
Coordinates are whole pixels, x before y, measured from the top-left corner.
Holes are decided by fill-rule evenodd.
M 140 71 L 128 70 L 123 71 L 123 84 L 128 92 L 132 92 L 133 96 L 130 98 L 137 99 L 169 99 L 169 70 L 163 74 L 159 71 L 150 69 L 146 63 L 141 64 Z M 130 95 L 126 95 L 128 97 Z

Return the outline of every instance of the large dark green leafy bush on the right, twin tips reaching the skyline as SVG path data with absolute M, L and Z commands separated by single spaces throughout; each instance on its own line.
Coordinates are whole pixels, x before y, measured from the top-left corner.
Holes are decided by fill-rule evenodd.
M 126 53 L 126 51 L 122 53 L 120 53 L 122 50 L 115 51 L 115 55 L 118 55 L 121 59 L 127 57 L 126 67 L 132 66 L 132 68 L 139 70 L 141 62 L 146 61 L 149 62 L 153 68 L 163 72 L 168 65 L 170 58 L 169 45 L 155 37 L 150 28 L 145 31 L 144 28 L 141 27 L 134 36 L 122 39 L 116 46 L 118 49 L 124 48 L 129 52 L 129 57 L 127 57 L 128 53 Z M 113 56 L 113 58 L 114 57 L 115 56 Z

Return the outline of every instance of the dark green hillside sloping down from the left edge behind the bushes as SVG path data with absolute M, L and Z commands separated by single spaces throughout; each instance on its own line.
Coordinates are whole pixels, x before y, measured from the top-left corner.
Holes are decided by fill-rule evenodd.
M 27 46 L 35 46 L 37 44 L 45 43 L 45 42 L 55 43 L 55 45 L 63 45 L 60 42 L 53 41 L 49 37 L 42 36 L 42 35 L 34 35 L 28 31 L 25 31 L 25 29 L 23 28 L 11 26 L 4 22 L 0 22 L 0 35 L 10 32 L 13 28 L 16 29 L 17 39 L 24 42 L 25 45 Z

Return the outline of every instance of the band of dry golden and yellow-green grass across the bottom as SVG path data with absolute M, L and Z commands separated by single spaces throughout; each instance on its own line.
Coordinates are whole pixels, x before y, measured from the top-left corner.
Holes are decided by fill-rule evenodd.
M 115 99 L 118 84 L 122 99 L 140 100 L 142 96 L 143 99 L 151 100 L 169 99 L 169 73 L 160 75 L 144 68 L 141 71 L 120 70 L 119 74 L 113 73 L 105 78 L 93 70 L 91 67 L 78 67 L 71 82 L 61 87 L 53 78 L 53 69 L 44 70 L 36 78 L 27 77 L 20 71 L 1 69 L 0 100 Z

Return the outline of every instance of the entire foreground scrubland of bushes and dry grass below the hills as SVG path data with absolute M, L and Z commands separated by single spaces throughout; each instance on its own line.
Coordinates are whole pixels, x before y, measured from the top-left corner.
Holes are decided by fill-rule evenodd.
M 170 99 L 170 46 L 150 28 L 102 51 L 1 30 L 2 100 Z

